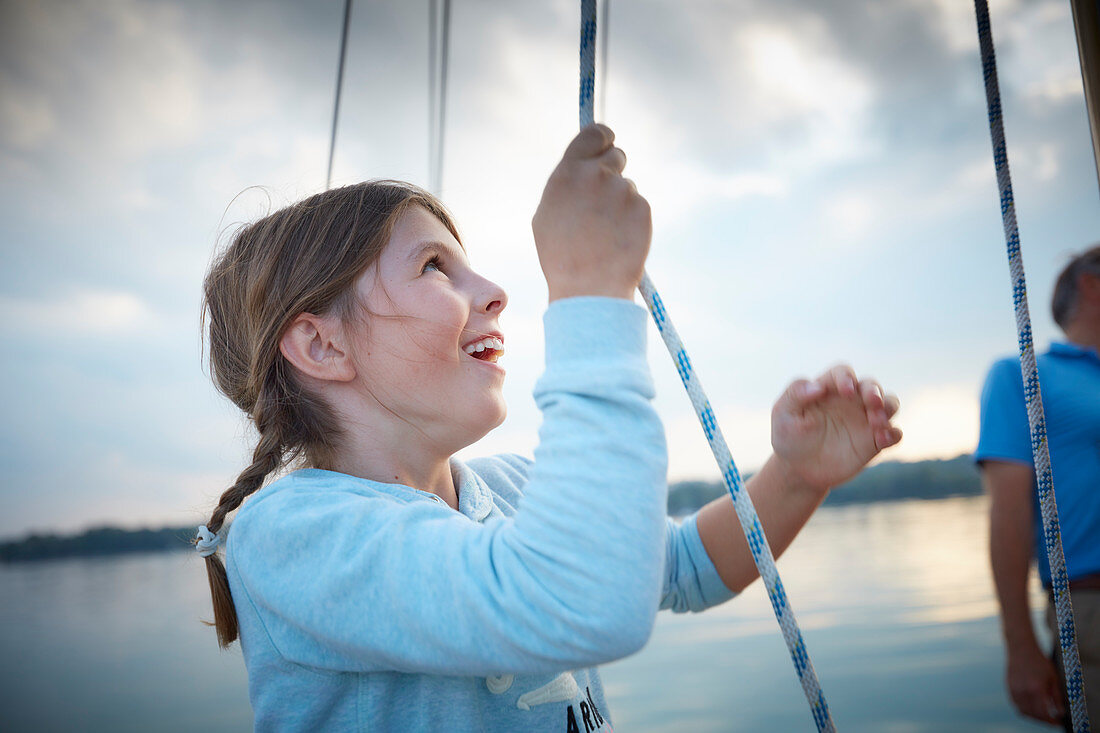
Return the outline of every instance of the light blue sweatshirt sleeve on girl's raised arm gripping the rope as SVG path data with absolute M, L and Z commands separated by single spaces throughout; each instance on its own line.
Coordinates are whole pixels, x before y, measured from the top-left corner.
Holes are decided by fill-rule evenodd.
M 284 490 L 229 537 L 275 648 L 332 670 L 537 674 L 639 649 L 666 562 L 667 449 L 646 311 L 556 300 L 524 501 L 485 524 L 428 501 Z

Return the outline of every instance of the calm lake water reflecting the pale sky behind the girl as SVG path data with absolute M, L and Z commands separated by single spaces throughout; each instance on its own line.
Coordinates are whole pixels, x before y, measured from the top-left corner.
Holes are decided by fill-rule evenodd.
M 1003 691 L 986 511 L 980 496 L 826 507 L 780 560 L 840 731 L 1052 730 Z M 190 553 L 0 565 L 0 731 L 250 730 L 240 648 L 218 650 L 210 615 Z M 603 678 L 619 733 L 813 730 L 759 583 L 660 614 Z

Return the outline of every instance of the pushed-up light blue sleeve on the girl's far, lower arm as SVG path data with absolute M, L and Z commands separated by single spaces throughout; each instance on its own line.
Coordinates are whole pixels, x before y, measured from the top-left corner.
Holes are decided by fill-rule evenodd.
M 676 524 L 672 517 L 668 518 L 662 611 L 705 611 L 737 594 L 726 587 L 711 556 L 706 554 L 703 539 L 698 536 L 696 517 L 697 514 L 692 514 L 683 524 Z

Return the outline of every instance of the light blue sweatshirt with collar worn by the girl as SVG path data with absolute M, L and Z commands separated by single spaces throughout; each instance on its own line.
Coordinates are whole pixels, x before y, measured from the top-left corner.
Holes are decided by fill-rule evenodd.
M 646 311 L 556 300 L 535 460 L 451 460 L 433 494 L 295 471 L 232 523 L 227 570 L 257 731 L 610 731 L 596 665 L 658 608 L 733 593 L 666 515 Z

